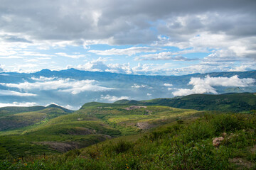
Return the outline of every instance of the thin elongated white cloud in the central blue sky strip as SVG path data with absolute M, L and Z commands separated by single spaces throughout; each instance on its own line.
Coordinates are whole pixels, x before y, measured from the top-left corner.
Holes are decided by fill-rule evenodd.
M 89 52 L 95 53 L 97 55 L 136 55 L 142 52 L 156 52 L 160 48 L 156 47 L 129 47 L 124 49 L 112 48 L 110 50 L 89 50 Z

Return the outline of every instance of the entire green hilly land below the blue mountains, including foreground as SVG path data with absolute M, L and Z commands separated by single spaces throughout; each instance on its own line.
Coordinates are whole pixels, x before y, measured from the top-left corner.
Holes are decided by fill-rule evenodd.
M 256 169 L 255 103 L 191 95 L 1 115 L 0 169 Z

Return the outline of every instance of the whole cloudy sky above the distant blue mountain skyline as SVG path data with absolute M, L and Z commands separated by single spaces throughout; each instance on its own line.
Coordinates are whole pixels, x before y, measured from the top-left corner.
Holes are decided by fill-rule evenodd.
M 0 0 L 0 72 L 256 68 L 255 0 Z

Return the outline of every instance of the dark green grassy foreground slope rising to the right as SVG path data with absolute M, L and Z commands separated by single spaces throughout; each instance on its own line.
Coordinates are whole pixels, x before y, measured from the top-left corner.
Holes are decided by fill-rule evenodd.
M 256 115 L 206 114 L 135 142 L 115 139 L 65 154 L 6 159 L 1 169 L 256 169 Z M 225 134 L 223 133 L 225 132 Z M 213 147 L 213 137 L 224 137 Z M 128 137 L 128 136 L 127 136 Z M 1 152 L 1 148 L 0 148 Z M 8 155 L 6 155 L 8 157 Z

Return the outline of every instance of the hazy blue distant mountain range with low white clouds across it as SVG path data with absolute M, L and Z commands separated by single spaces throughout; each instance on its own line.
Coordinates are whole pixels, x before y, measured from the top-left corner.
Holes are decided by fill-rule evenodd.
M 256 71 L 215 72 L 183 76 L 145 76 L 78 69 L 35 73 L 0 73 L 0 106 L 47 106 L 70 109 L 97 101 L 149 100 L 188 94 L 256 91 Z

